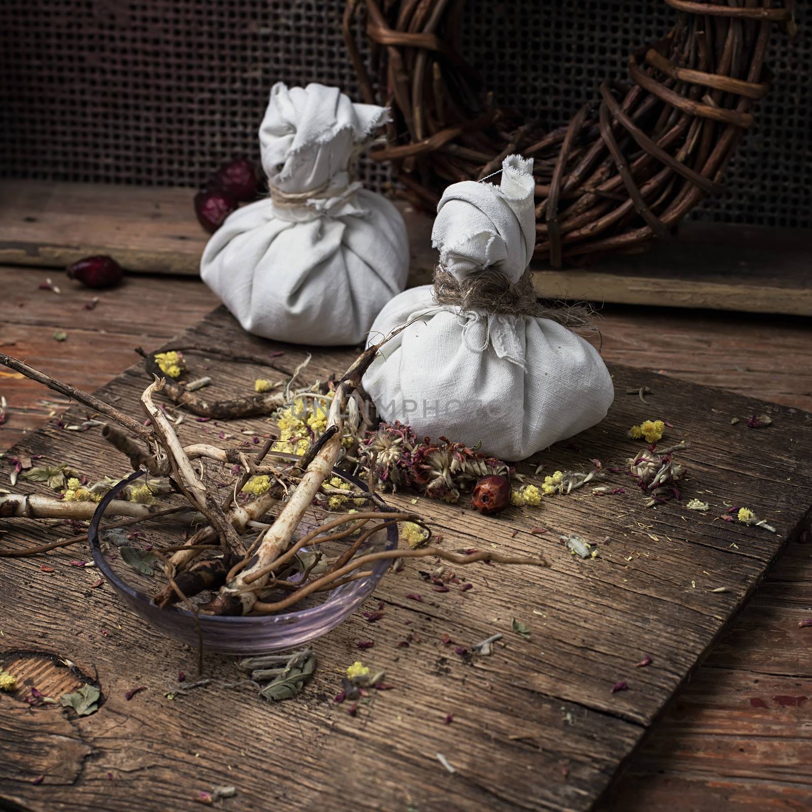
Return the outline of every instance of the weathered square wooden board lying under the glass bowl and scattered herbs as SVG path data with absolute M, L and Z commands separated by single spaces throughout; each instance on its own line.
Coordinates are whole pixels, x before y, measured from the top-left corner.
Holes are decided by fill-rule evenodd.
M 255 377 L 273 375 L 268 367 L 289 373 L 304 357 L 304 348 L 284 347 L 283 356 L 271 358 L 276 345 L 244 335 L 222 310 L 171 346 L 183 347 L 195 365 L 209 366 L 223 393 L 247 391 Z M 228 358 L 240 363 L 229 368 Z M 323 378 L 351 358 L 352 352 L 319 351 L 307 374 Z M 411 495 L 393 497 L 392 503 L 434 520 L 448 549 L 492 543 L 504 551 L 542 551 L 552 567 L 482 565 L 469 572 L 474 588 L 468 593 L 433 594 L 418 567 L 407 565 L 375 596 L 386 607 L 381 621 L 370 625 L 355 616 L 318 641 L 321 666 L 301 701 L 266 706 L 251 693 L 225 689 L 219 682 L 234 679 L 235 669 L 210 658 L 215 684 L 171 702 L 163 692 L 178 668 L 192 670 L 193 653 L 137 622 L 106 587 L 90 590 L 95 573 L 68 564 L 75 551 L 48 556 L 54 575 L 41 572 L 37 560 L 4 559 L 0 646 L 6 652 L 46 650 L 86 672 L 97 670 L 106 702 L 96 715 L 71 723 L 68 735 L 62 723 L 40 721 L 62 711 L 20 713 L 9 704 L 13 698 L 2 697 L 4 708 L 16 710 L 0 715 L 0 798 L 25 810 L 184 810 L 197 808 L 194 791 L 233 784 L 239 795 L 224 806 L 240 810 L 265 810 L 274 802 L 325 810 L 411 805 L 421 812 L 483 804 L 495 810 L 589 808 L 805 514 L 808 522 L 812 501 L 804 462 L 812 450 L 810 414 L 775 407 L 773 426 L 748 430 L 730 420 L 764 411 L 758 401 L 639 370 L 615 366 L 613 372 L 620 394 L 607 421 L 520 469 L 532 474 L 540 460 L 548 469 L 580 468 L 593 456 L 619 464 L 637 447 L 624 438 L 628 425 L 665 417 L 674 425 L 672 438 L 688 435 L 692 443 L 684 454 L 691 471 L 685 495 L 711 502 L 711 512 L 689 512 L 676 503 L 646 510 L 631 488 L 611 497 L 578 492 L 545 500 L 540 511 L 514 509 L 490 519 L 464 505 L 420 499 L 412 507 Z M 131 369 L 103 393 L 120 397 L 119 408 L 127 404 L 137 414 L 144 382 Z M 643 385 L 654 390 L 650 407 L 623 394 Z M 68 423 L 84 415 L 71 411 Z M 219 431 L 191 421 L 180 428 L 186 439 Z M 19 450 L 71 460 L 90 476 L 124 470 L 93 432 L 49 425 Z M 622 477 L 619 484 L 628 485 Z M 717 520 L 725 503 L 749 504 L 779 532 Z M 6 545 L 59 533 L 10 525 Z M 551 532 L 529 532 L 538 526 Z M 568 531 L 610 541 L 599 543 L 598 559 L 581 561 L 559 546 L 558 532 Z M 711 591 L 720 586 L 728 591 Z M 405 598 L 412 592 L 424 593 L 425 603 Z M 510 632 L 512 617 L 529 625 L 529 641 Z M 473 662 L 440 641 L 447 633 L 469 646 L 495 631 L 505 633 L 507 645 Z M 399 648 L 408 633 L 414 635 L 410 646 Z M 374 639 L 364 659 L 386 667 L 387 680 L 397 687 L 352 718 L 331 697 L 341 670 L 359 654 L 360 639 Z M 645 654 L 653 663 L 635 669 Z M 627 680 L 630 689 L 610 693 L 618 680 Z M 124 692 L 134 685 L 149 690 L 127 702 Z M 454 721 L 446 725 L 449 713 Z M 74 758 L 67 779 L 45 770 L 65 736 L 90 751 Z M 21 747 L 21 741 L 37 746 Z M 456 768 L 454 775 L 443 770 L 438 753 Z M 45 779 L 32 784 L 38 775 Z M 72 784 L 68 792 L 65 784 Z

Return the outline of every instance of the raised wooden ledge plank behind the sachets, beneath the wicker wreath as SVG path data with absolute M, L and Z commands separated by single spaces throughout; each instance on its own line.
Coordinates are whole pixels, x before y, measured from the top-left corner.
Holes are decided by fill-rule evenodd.
M 194 190 L 0 181 L 0 263 L 65 267 L 110 253 L 132 271 L 198 273 L 208 235 Z M 411 285 L 431 279 L 431 219 L 399 204 L 412 244 Z M 685 223 L 678 239 L 585 269 L 538 266 L 540 296 L 620 304 L 812 315 L 806 231 Z

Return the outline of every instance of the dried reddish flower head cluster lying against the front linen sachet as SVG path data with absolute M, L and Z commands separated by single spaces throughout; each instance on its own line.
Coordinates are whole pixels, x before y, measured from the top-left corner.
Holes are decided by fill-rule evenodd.
M 359 448 L 359 459 L 371 469 L 378 485 L 397 490 L 413 487 L 431 499 L 454 503 L 481 477 L 510 477 L 512 469 L 464 443 L 441 437 L 423 442 L 399 421 L 382 423 L 369 432 Z

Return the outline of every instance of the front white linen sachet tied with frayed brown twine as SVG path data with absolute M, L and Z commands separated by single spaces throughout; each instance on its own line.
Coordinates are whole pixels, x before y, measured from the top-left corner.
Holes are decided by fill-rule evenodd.
M 499 187 L 444 192 L 434 285 L 396 296 L 370 333 L 374 343 L 408 324 L 364 377 L 383 419 L 522 460 L 606 417 L 614 390 L 601 357 L 533 293 L 533 184 L 532 159 L 511 155 Z

